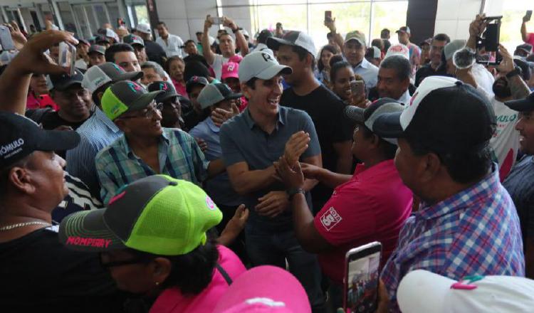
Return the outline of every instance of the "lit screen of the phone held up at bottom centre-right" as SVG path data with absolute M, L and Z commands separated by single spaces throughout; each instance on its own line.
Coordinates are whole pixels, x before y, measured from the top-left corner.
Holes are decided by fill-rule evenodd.
M 376 251 L 376 246 L 372 248 L 370 249 Z M 357 254 L 360 255 L 360 253 Z M 346 312 L 376 311 L 379 265 L 379 250 L 372 254 L 362 256 L 361 258 L 349 260 L 346 277 Z

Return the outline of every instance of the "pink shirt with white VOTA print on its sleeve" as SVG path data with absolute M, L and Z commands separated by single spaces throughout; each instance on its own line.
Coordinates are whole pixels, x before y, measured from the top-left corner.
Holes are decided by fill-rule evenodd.
M 350 181 L 337 186 L 315 216 L 315 228 L 335 250 L 318 255 L 323 272 L 338 284 L 345 275 L 345 253 L 379 241 L 381 266 L 397 245 L 399 231 L 412 213 L 412 191 L 404 186 L 393 160 L 365 169 L 358 164 Z

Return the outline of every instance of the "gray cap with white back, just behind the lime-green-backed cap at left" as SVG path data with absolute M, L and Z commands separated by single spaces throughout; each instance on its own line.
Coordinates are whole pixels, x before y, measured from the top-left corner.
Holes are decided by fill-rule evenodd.
M 107 83 L 116 83 L 120 80 L 138 80 L 142 72 L 126 72 L 119 65 L 106 62 L 91 66 L 83 75 L 82 87 L 87 88 L 91 94 Z

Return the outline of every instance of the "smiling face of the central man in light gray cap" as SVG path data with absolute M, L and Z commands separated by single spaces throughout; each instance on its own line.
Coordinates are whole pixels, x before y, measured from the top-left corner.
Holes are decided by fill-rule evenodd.
M 254 82 L 254 88 L 242 84 L 241 90 L 248 98 L 249 110 L 265 117 L 278 114 L 278 103 L 283 91 L 281 75 L 275 75 L 270 80 L 258 79 Z

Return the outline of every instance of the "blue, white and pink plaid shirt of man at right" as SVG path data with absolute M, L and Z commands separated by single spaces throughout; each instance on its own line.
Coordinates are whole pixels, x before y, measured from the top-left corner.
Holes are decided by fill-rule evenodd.
M 392 312 L 399 312 L 400 280 L 418 269 L 453 280 L 467 275 L 525 275 L 519 218 L 498 170 L 444 201 L 422 203 L 408 218 L 381 277 Z

